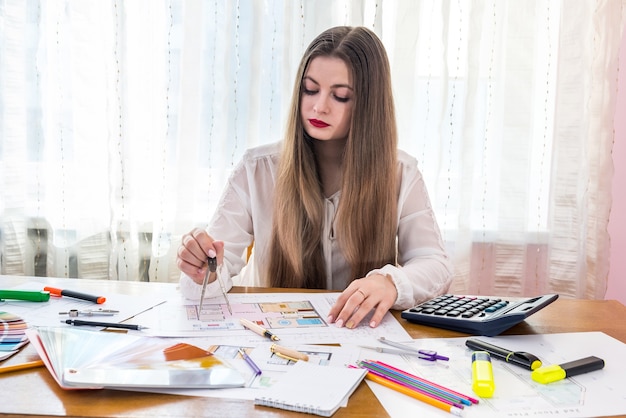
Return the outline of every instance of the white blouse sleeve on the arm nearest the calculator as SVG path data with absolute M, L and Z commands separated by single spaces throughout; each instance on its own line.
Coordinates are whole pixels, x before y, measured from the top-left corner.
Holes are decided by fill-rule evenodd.
M 398 265 L 368 273 L 391 276 L 398 291 L 393 309 L 408 309 L 443 294 L 452 281 L 452 266 L 417 161 L 404 158 L 401 165 Z

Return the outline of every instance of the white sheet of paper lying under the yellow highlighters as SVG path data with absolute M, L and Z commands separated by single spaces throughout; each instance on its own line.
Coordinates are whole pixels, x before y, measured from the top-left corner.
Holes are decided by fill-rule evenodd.
M 496 391 L 492 398 L 465 407 L 467 418 L 547 417 L 561 418 L 626 414 L 626 344 L 601 332 L 472 337 L 509 350 L 538 356 L 543 366 L 563 364 L 588 356 L 605 361 L 602 370 L 581 374 L 547 385 L 534 382 L 530 371 L 492 358 Z M 361 356 L 380 360 L 421 378 L 468 396 L 472 392 L 471 353 L 467 338 L 418 339 L 415 348 L 436 350 L 448 362 L 430 363 L 411 357 L 361 351 Z M 391 417 L 450 417 L 445 411 L 367 381 Z

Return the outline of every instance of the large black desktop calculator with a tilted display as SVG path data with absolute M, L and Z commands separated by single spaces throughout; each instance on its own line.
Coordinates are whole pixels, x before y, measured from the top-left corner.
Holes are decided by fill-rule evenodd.
M 554 302 L 559 295 L 534 298 L 441 295 L 404 310 L 401 317 L 416 324 L 492 337 Z

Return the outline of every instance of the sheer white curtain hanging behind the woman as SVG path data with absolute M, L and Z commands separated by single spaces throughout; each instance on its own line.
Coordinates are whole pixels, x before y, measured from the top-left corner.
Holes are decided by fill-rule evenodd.
M 602 298 L 624 0 L 0 1 L 1 273 L 176 281 L 301 53 L 385 43 L 453 291 Z

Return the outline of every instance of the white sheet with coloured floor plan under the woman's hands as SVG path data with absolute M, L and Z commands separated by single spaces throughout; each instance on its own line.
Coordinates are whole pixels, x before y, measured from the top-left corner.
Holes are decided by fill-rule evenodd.
M 268 339 L 245 329 L 239 323 L 240 318 L 271 324 L 266 328 L 280 337 L 281 345 L 371 344 L 381 336 L 397 340 L 411 338 L 390 313 L 376 328 L 369 326 L 367 318 L 354 329 L 328 324 L 326 318 L 337 297 L 339 293 L 231 293 L 232 314 L 219 296 L 203 304 L 201 320 L 197 302 L 173 297 L 149 312 L 143 325 L 149 327 L 146 333 L 154 336 L 220 337 L 223 344 L 241 346 Z

